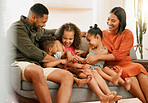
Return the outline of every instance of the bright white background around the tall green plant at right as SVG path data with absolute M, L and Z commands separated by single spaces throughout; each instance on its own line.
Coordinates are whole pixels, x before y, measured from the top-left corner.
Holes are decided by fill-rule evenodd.
M 130 29 L 134 34 L 134 45 L 137 45 L 137 37 L 136 37 L 136 19 L 134 17 L 134 0 L 125 0 L 125 10 L 127 13 L 127 27 Z M 148 2 L 146 2 L 146 6 L 148 5 Z M 130 9 L 129 9 L 130 8 Z M 148 10 L 148 8 L 146 9 Z M 147 20 L 148 20 L 148 14 L 147 14 Z M 148 22 L 147 22 L 148 23 Z M 147 26 L 148 27 L 148 26 Z M 146 34 L 143 35 L 143 59 L 148 59 L 148 30 Z M 140 53 L 139 50 L 136 51 L 137 58 L 140 59 Z

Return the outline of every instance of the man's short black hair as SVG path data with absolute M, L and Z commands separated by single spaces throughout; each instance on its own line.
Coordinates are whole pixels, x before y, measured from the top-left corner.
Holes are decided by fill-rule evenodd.
M 49 14 L 48 12 L 48 9 L 43 5 L 43 4 L 40 4 L 40 3 L 36 3 L 34 4 L 30 10 L 36 14 L 37 16 L 40 16 L 40 17 L 43 17 L 44 14 Z

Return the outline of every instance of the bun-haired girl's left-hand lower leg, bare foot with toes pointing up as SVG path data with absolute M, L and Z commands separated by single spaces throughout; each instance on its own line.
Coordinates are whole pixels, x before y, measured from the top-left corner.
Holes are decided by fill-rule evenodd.
M 108 70 L 110 70 L 110 68 L 108 68 L 108 67 L 104 67 L 103 69 L 108 69 Z M 96 68 L 96 70 L 98 71 L 98 73 L 99 73 L 104 79 L 106 79 L 106 80 L 112 82 L 114 85 L 117 85 L 117 84 L 118 84 L 118 78 L 121 76 L 121 72 L 122 72 L 121 70 L 120 70 L 120 72 L 119 72 L 118 74 L 115 74 L 115 75 L 112 75 L 112 76 L 106 74 L 106 73 L 103 72 L 103 70 L 100 69 L 100 68 Z

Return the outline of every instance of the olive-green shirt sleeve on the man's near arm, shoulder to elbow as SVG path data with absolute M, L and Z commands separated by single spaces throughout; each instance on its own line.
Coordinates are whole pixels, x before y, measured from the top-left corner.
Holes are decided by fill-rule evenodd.
M 8 30 L 9 41 L 17 48 L 22 55 L 31 60 L 42 62 L 47 53 L 39 49 L 30 39 L 29 28 L 15 23 Z

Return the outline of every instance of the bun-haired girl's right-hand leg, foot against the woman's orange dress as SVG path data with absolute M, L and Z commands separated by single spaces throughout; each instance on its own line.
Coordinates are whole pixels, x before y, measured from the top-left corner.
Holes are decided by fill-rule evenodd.
M 106 74 L 110 75 L 110 76 L 114 76 L 117 75 L 117 73 L 114 70 L 111 70 L 110 68 L 103 68 L 102 69 L 103 72 L 105 72 Z M 118 73 L 119 74 L 119 73 Z M 131 78 L 126 78 L 125 81 L 119 77 L 118 82 L 120 85 L 122 85 L 127 91 L 130 90 L 131 88 Z

